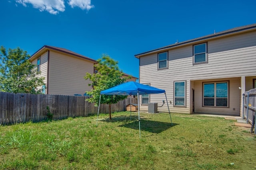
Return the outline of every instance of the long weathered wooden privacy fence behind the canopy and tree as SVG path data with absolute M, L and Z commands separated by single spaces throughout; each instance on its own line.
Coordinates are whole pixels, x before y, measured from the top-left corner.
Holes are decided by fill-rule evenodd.
M 87 98 L 89 97 L 0 92 L 0 124 L 42 121 L 47 119 L 48 111 L 53 114 L 53 119 L 96 114 L 98 107 L 87 102 Z M 136 98 L 132 98 L 132 103 L 136 102 Z M 128 104 L 130 98 L 112 104 L 111 111 L 124 111 Z M 100 105 L 100 113 L 108 113 L 107 104 Z

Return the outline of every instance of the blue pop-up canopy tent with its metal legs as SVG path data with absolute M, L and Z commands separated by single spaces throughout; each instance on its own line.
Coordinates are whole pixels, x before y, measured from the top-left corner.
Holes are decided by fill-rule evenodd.
M 172 123 L 172 118 L 171 118 L 171 113 L 170 113 L 170 109 L 169 109 L 169 105 L 168 105 L 168 101 L 167 101 L 167 97 L 166 97 L 166 93 L 165 90 L 161 90 L 152 86 L 147 86 L 144 84 L 140 84 L 137 82 L 126 82 L 123 84 L 120 84 L 118 86 L 114 86 L 112 88 L 109 88 L 107 90 L 103 90 L 100 92 L 100 98 L 101 95 L 137 95 L 138 96 L 138 120 L 139 120 L 139 130 L 140 130 L 140 104 L 139 104 L 139 95 L 142 94 L 160 94 L 160 93 L 164 93 L 165 94 L 165 98 L 166 98 L 166 103 L 168 106 L 168 111 L 169 111 L 169 115 L 170 115 L 170 119 L 171 119 L 171 123 Z M 97 123 L 96 126 L 98 126 L 98 117 L 99 117 L 99 110 L 100 110 L 100 101 L 99 101 L 99 106 L 98 106 L 98 115 L 97 115 Z

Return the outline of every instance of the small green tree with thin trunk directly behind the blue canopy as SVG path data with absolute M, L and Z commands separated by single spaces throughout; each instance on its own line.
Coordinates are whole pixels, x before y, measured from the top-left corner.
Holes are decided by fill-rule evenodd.
M 88 95 L 92 96 L 86 99 L 90 103 L 94 103 L 94 106 L 98 106 L 100 100 L 100 92 L 108 88 L 112 88 L 118 84 L 126 82 L 130 79 L 122 77 L 124 74 L 119 70 L 118 62 L 111 59 L 108 55 L 102 55 L 100 59 L 97 60 L 98 64 L 94 67 L 98 70 L 96 74 L 86 73 L 84 77 L 86 80 L 90 80 L 92 83 L 88 84 L 92 86 L 91 91 L 86 92 Z M 127 96 L 122 95 L 102 95 L 100 102 L 102 104 L 108 104 L 109 108 L 109 119 L 111 120 L 111 104 L 116 104 L 120 100 L 124 100 Z

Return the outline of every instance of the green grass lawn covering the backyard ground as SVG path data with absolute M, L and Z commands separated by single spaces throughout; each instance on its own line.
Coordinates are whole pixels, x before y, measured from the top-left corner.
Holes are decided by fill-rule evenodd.
M 220 117 L 119 112 L 0 126 L 0 169 L 249 170 L 256 137 Z

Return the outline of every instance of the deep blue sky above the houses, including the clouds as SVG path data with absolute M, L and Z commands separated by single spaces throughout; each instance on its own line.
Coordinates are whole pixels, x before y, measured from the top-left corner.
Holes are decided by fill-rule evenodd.
M 105 53 L 139 77 L 134 55 L 256 23 L 255 8 L 256 0 L 0 0 L 0 45 Z

